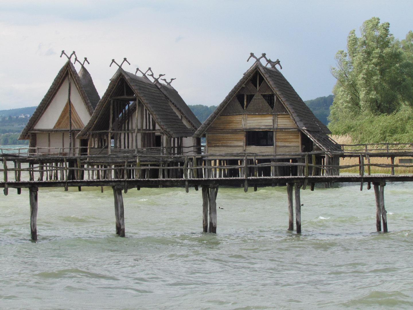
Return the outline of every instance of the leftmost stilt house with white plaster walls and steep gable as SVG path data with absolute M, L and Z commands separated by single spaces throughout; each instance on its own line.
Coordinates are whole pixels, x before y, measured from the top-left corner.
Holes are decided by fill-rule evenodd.
M 82 65 L 78 74 L 68 60 L 28 120 L 19 140 L 29 140 L 31 153 L 86 154 L 87 139 L 75 137 L 89 122 L 99 100 L 88 70 Z

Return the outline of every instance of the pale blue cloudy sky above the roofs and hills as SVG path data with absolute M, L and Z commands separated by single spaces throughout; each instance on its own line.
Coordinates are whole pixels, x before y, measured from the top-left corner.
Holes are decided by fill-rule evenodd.
M 250 52 L 279 59 L 303 100 L 327 96 L 349 31 L 374 16 L 403 39 L 411 12 L 413 1 L 0 0 L 0 110 L 38 105 L 67 60 L 62 50 L 88 58 L 100 96 L 112 59 L 126 57 L 126 71 L 176 78 L 188 105 L 218 105 L 253 64 Z

